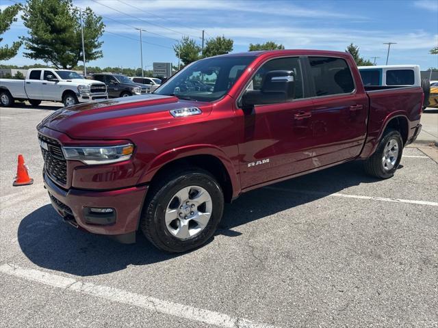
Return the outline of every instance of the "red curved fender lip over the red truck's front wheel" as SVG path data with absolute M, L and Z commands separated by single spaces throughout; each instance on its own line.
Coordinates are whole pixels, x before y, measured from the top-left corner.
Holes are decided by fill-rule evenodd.
M 210 155 L 220 160 L 230 177 L 231 184 L 233 186 L 233 197 L 237 197 L 240 193 L 240 180 L 237 176 L 237 172 L 233 165 L 233 162 L 227 154 L 225 154 L 220 148 L 210 144 L 197 144 L 190 146 L 183 146 L 180 148 L 173 148 L 162 152 L 153 159 L 148 167 L 144 170 L 144 174 L 140 177 L 138 184 L 151 182 L 153 176 L 157 174 L 158 170 L 164 167 L 164 165 L 176 161 L 178 159 L 184 159 L 190 156 L 196 155 Z

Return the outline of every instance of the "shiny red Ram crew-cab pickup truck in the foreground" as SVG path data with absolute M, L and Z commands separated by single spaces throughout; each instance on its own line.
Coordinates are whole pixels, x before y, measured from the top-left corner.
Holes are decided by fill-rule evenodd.
M 420 133 L 420 87 L 364 87 L 335 51 L 202 59 L 151 95 L 65 107 L 38 125 L 44 184 L 66 221 L 159 249 L 205 243 L 224 202 L 361 160 L 393 176 Z

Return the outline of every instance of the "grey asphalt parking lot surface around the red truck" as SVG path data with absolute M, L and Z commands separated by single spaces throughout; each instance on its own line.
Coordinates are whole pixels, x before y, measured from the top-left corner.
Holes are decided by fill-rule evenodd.
M 348 163 L 246 193 L 170 255 L 55 213 L 35 127 L 57 108 L 0 108 L 0 327 L 438 327 L 436 149 L 405 148 L 389 180 Z

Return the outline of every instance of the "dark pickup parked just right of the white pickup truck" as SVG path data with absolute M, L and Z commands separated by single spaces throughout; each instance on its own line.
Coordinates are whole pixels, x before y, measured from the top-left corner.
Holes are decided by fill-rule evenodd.
M 92 78 L 107 85 L 108 96 L 110 98 L 129 97 L 139 94 L 146 94 L 147 87 L 140 83 L 134 83 L 123 74 L 96 73 Z

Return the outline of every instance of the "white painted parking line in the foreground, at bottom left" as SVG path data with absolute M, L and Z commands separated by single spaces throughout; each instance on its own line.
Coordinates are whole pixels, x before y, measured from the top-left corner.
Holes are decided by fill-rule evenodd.
M 206 323 L 208 325 L 216 325 L 218 327 L 229 328 L 275 328 L 272 325 L 265 325 L 263 323 L 253 323 L 244 318 L 233 318 L 227 314 L 194 308 L 189 305 L 163 301 L 145 295 L 136 294 L 135 292 L 128 292 L 118 288 L 109 286 L 100 286 L 91 284 L 89 282 L 79 282 L 76 279 L 62 277 L 53 273 L 47 273 L 35 269 L 24 269 L 14 264 L 0 265 L 0 272 L 15 277 L 30 280 L 32 282 L 40 282 L 44 285 L 49 285 L 64 290 L 72 290 L 84 295 L 92 295 L 118 303 L 125 303 L 135 305 L 138 308 L 143 308 L 153 312 L 162 314 L 169 314 L 179 318 L 186 318 L 194 320 L 199 323 Z

